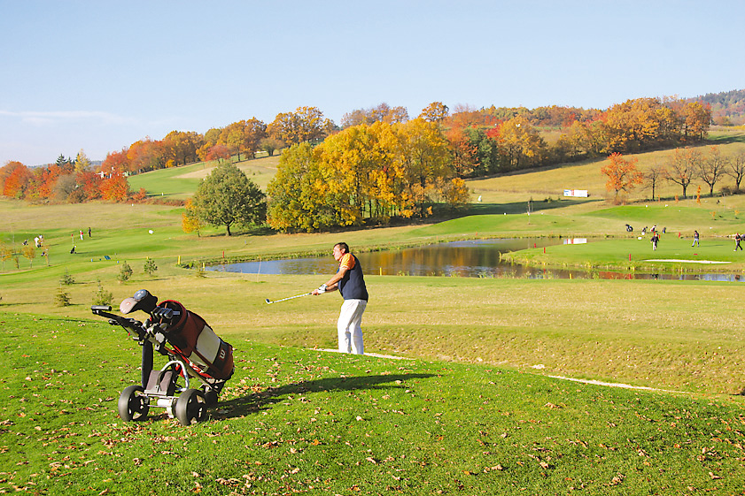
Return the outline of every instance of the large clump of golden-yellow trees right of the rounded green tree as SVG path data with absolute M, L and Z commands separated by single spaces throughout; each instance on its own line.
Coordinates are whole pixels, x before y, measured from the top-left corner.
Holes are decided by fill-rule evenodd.
M 285 149 L 268 195 L 269 225 L 310 232 L 426 217 L 436 203 L 467 202 L 469 192 L 455 177 L 440 126 L 417 118 L 347 127 L 315 147 Z

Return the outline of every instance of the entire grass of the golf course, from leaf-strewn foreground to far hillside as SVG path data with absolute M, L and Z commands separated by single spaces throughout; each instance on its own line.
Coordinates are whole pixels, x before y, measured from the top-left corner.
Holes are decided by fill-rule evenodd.
M 271 160 L 241 166 L 265 187 Z M 590 198 L 560 195 L 557 185 L 589 181 L 599 167 L 477 179 L 458 216 L 345 233 L 185 234 L 181 207 L 0 200 L 0 246 L 11 248 L 0 267 L 9 360 L 0 373 L 0 492 L 741 492 L 745 289 L 603 280 L 601 271 L 741 274 L 745 255 L 731 236 L 745 231 L 745 195 L 676 201 L 671 188 L 668 200 L 614 206 L 597 178 Z M 130 184 L 184 199 L 207 172 L 195 164 Z M 666 230 L 656 251 L 640 233 L 652 225 Z M 23 256 L 21 242 L 39 234 L 49 256 Z M 362 251 L 535 236 L 590 242 L 509 257 L 586 279 L 367 274 L 366 351 L 401 360 L 320 351 L 336 346 L 338 294 L 265 303 L 330 274 L 182 268 L 319 255 L 333 271 L 330 248 L 340 240 Z M 120 280 L 125 263 L 133 274 Z M 117 417 L 120 391 L 139 378 L 139 349 L 90 314 L 99 285 L 114 308 L 140 288 L 182 301 L 236 347 L 236 376 L 208 422 Z M 60 294 L 68 306 L 57 306 Z

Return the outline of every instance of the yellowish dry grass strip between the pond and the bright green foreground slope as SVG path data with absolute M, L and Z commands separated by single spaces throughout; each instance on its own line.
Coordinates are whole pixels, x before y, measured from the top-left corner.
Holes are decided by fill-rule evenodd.
M 137 275 L 105 281 L 114 301 L 146 287 L 182 301 L 214 329 L 283 346 L 335 347 L 338 294 L 267 305 L 326 275 L 206 278 Z M 368 276 L 370 352 L 597 378 L 710 394 L 741 393 L 741 289 L 733 283 L 623 280 L 462 279 Z M 57 289 L 3 291 L 2 311 L 89 318 L 97 280 Z M 691 305 L 695 301 L 695 305 Z

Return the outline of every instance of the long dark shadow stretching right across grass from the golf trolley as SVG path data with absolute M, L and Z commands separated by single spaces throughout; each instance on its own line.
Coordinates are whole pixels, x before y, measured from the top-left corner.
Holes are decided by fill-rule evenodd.
M 332 391 L 354 391 L 357 389 L 392 389 L 407 387 L 396 384 L 411 379 L 431 378 L 434 374 L 391 374 L 378 376 L 359 376 L 347 378 L 324 378 L 300 381 L 279 387 L 268 387 L 260 393 L 251 393 L 234 400 L 220 401 L 217 405 L 218 418 L 235 418 L 257 413 L 283 401 L 288 394 L 307 394 Z M 390 384 L 393 383 L 393 384 Z

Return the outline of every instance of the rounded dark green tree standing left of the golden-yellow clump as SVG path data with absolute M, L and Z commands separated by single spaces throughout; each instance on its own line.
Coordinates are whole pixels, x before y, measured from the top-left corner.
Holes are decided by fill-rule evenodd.
M 266 218 L 265 195 L 234 164 L 222 163 L 197 188 L 192 198 L 196 216 L 209 225 L 252 225 Z

